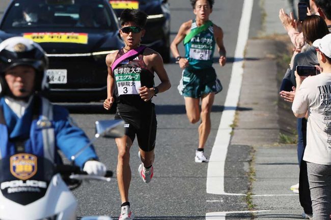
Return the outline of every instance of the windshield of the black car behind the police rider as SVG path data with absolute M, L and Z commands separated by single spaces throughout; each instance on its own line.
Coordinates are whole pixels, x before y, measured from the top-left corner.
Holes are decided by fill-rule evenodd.
M 102 0 L 15 0 L 2 29 L 117 28 L 112 10 Z

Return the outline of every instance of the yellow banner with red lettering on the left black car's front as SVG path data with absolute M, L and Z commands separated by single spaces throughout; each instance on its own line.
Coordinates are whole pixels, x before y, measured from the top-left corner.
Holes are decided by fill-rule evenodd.
M 86 33 L 24 33 L 23 37 L 37 43 L 88 43 Z

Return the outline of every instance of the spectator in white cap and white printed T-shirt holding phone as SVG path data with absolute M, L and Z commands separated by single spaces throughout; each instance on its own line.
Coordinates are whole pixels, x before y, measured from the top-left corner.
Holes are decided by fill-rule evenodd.
M 313 43 L 322 68 L 308 77 L 295 73 L 296 93 L 292 111 L 298 118 L 308 115 L 307 162 L 313 219 L 329 219 L 331 212 L 331 34 Z

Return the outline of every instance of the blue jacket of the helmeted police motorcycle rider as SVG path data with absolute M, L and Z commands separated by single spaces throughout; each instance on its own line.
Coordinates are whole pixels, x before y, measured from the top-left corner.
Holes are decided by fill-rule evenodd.
M 0 159 L 16 152 L 17 143 L 22 143 L 24 152 L 47 158 L 56 164 L 62 160 L 61 150 L 70 159 L 89 143 L 84 131 L 69 117 L 69 112 L 47 99 L 35 96 L 21 118 L 0 99 Z M 82 167 L 89 159 L 97 159 L 93 146 L 86 148 L 75 159 Z

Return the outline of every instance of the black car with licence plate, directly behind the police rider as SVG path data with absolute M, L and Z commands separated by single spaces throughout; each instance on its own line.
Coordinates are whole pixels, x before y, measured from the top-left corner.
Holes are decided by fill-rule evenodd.
M 123 47 L 117 17 L 106 0 L 13 0 L 0 23 L 0 41 L 23 36 L 49 58 L 52 101 L 106 98 L 105 56 Z

